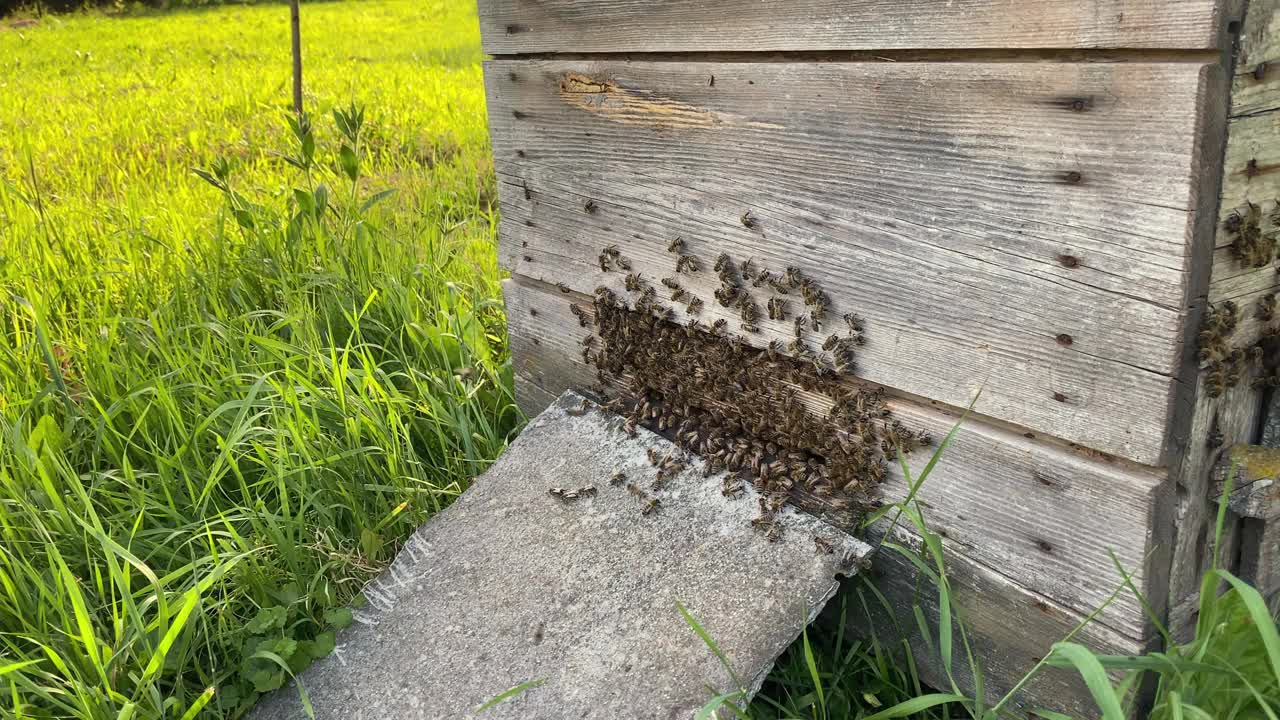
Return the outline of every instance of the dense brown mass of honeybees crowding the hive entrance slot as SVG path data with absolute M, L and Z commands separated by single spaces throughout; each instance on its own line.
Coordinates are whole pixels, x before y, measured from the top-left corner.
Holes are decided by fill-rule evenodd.
M 818 333 L 827 324 L 829 301 L 815 282 L 795 268 L 772 273 L 750 261 L 739 266 L 721 255 L 714 265 L 716 300 L 737 313 L 742 331 L 759 332 L 759 304 L 751 288 L 771 295 L 764 304 L 771 319 L 792 323 L 790 343 L 753 347 L 730 332 L 727 320 L 703 324 L 694 318 L 703 305 L 678 275 L 700 272 L 701 265 L 681 240 L 669 251 L 677 256 L 676 277 L 660 284 L 672 302 L 685 306 L 686 324 L 676 320 L 657 287 L 639 273 L 626 275 L 626 299 L 596 288 L 595 332 L 582 343 L 584 360 L 598 372 L 596 391 L 609 396 L 608 406 L 626 418 L 626 430 L 640 424 L 666 434 L 705 460 L 704 475 L 727 470 L 726 496 L 739 495 L 741 483 L 751 482 L 762 493 L 753 527 L 769 539 L 781 537 L 777 515 L 788 501 L 833 514 L 849 525 L 856 523 L 874 505 L 872 489 L 883 480 L 887 459 L 931 442 L 928 434 L 890 415 L 881 391 L 859 389 L 842 377 L 864 343 L 861 322 L 846 315 L 841 331 L 822 340 Z M 617 268 L 618 258 L 611 246 L 602 266 L 608 259 Z M 805 309 L 790 315 L 786 305 L 794 296 Z M 588 324 L 586 313 L 576 306 L 573 313 Z M 818 338 L 812 341 L 814 334 Z M 806 398 L 806 393 L 812 395 Z M 826 415 L 806 407 L 806 402 L 820 402 L 814 395 L 831 404 Z M 646 511 L 657 507 L 649 492 L 662 491 L 663 477 L 673 474 L 673 466 L 684 469 L 677 459 L 652 460 L 659 469 L 652 488 L 627 484 L 637 497 L 644 495 Z

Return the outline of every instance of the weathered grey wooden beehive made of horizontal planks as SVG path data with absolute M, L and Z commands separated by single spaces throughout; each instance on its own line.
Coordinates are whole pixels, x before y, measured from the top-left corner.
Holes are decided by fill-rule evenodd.
M 1217 393 L 1197 337 L 1231 300 L 1248 345 L 1276 284 L 1228 219 L 1252 202 L 1274 231 L 1277 4 L 480 0 L 524 409 L 594 382 L 570 302 L 618 284 L 605 246 L 650 278 L 677 236 L 796 265 L 865 318 L 858 374 L 904 421 L 945 434 L 982 388 L 920 498 L 988 694 L 1106 603 L 1108 551 L 1185 634 L 1217 447 L 1258 424 L 1261 370 Z M 753 345 L 786 338 L 762 325 Z M 905 628 L 936 610 L 878 562 Z M 1076 639 L 1158 642 L 1130 593 Z M 1066 671 L 1023 702 L 1089 714 Z

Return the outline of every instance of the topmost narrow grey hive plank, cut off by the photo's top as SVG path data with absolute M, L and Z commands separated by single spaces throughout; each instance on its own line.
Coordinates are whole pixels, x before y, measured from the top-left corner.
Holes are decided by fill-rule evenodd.
M 484 50 L 1210 49 L 1215 0 L 481 0 Z

